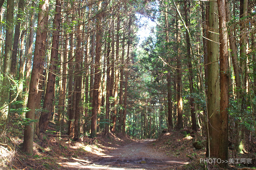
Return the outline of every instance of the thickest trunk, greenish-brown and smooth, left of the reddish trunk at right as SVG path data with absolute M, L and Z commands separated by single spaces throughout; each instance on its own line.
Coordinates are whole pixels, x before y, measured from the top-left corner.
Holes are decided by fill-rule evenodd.
M 216 13 L 216 14 L 215 14 Z M 208 63 L 219 60 L 219 25 L 218 6 L 215 2 L 209 2 L 209 32 L 207 41 Z M 220 129 L 220 79 L 218 62 L 208 66 L 208 124 L 210 139 L 210 157 L 218 157 L 219 129 Z M 207 148 L 208 149 L 208 148 Z

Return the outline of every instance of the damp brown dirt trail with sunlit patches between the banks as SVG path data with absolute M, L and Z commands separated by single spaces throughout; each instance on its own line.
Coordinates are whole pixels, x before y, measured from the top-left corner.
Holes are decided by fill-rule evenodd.
M 75 159 L 62 164 L 65 169 L 83 170 L 164 170 L 187 164 L 185 159 L 172 158 L 154 147 L 152 139 L 136 140 L 109 147 L 94 158 Z M 171 168 L 172 167 L 172 168 Z

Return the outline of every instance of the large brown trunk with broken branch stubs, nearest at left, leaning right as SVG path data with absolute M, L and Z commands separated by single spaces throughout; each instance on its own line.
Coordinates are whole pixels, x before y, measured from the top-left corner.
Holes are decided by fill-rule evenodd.
M 38 13 L 38 26 L 36 31 L 36 44 L 33 59 L 33 69 L 31 72 L 31 79 L 29 85 L 28 94 L 28 109 L 26 118 L 32 120 L 24 127 L 23 138 L 23 151 L 28 154 L 33 154 L 33 137 L 34 137 L 34 117 L 35 109 L 38 107 L 38 103 L 41 100 L 40 83 L 42 83 L 42 67 L 44 66 L 45 56 L 45 42 L 47 38 L 47 23 L 48 23 L 48 5 L 49 1 L 44 0 L 44 3 L 39 4 L 41 11 Z

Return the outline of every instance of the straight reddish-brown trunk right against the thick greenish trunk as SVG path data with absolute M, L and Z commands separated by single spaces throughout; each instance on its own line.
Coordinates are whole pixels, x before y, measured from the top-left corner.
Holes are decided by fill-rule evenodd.
M 217 0 L 220 28 L 220 142 L 219 156 L 221 160 L 228 160 L 228 33 L 226 23 L 225 0 Z M 228 166 L 227 162 L 220 163 L 220 167 Z

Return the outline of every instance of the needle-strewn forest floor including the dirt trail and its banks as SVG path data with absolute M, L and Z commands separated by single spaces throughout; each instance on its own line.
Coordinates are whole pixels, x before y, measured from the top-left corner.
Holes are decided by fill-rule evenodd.
M 205 157 L 204 147 L 200 150 L 193 147 L 195 140 L 204 141 L 204 137 L 198 133 L 184 134 L 183 132 L 163 133 L 156 140 L 142 140 L 109 133 L 107 136 L 99 134 L 94 139 L 85 137 L 79 142 L 74 142 L 68 137 L 59 138 L 46 133 L 40 140 L 35 141 L 33 155 L 24 155 L 20 152 L 17 145 L 22 143 L 22 140 L 9 136 L 15 142 L 16 151 L 13 150 L 15 154 L 12 159 L 9 158 L 9 162 L 5 161 L 8 166 L 4 166 L 2 161 L 0 170 L 220 169 L 217 164 L 205 164 L 201 161 Z M 229 169 L 237 169 L 237 167 L 229 166 Z

